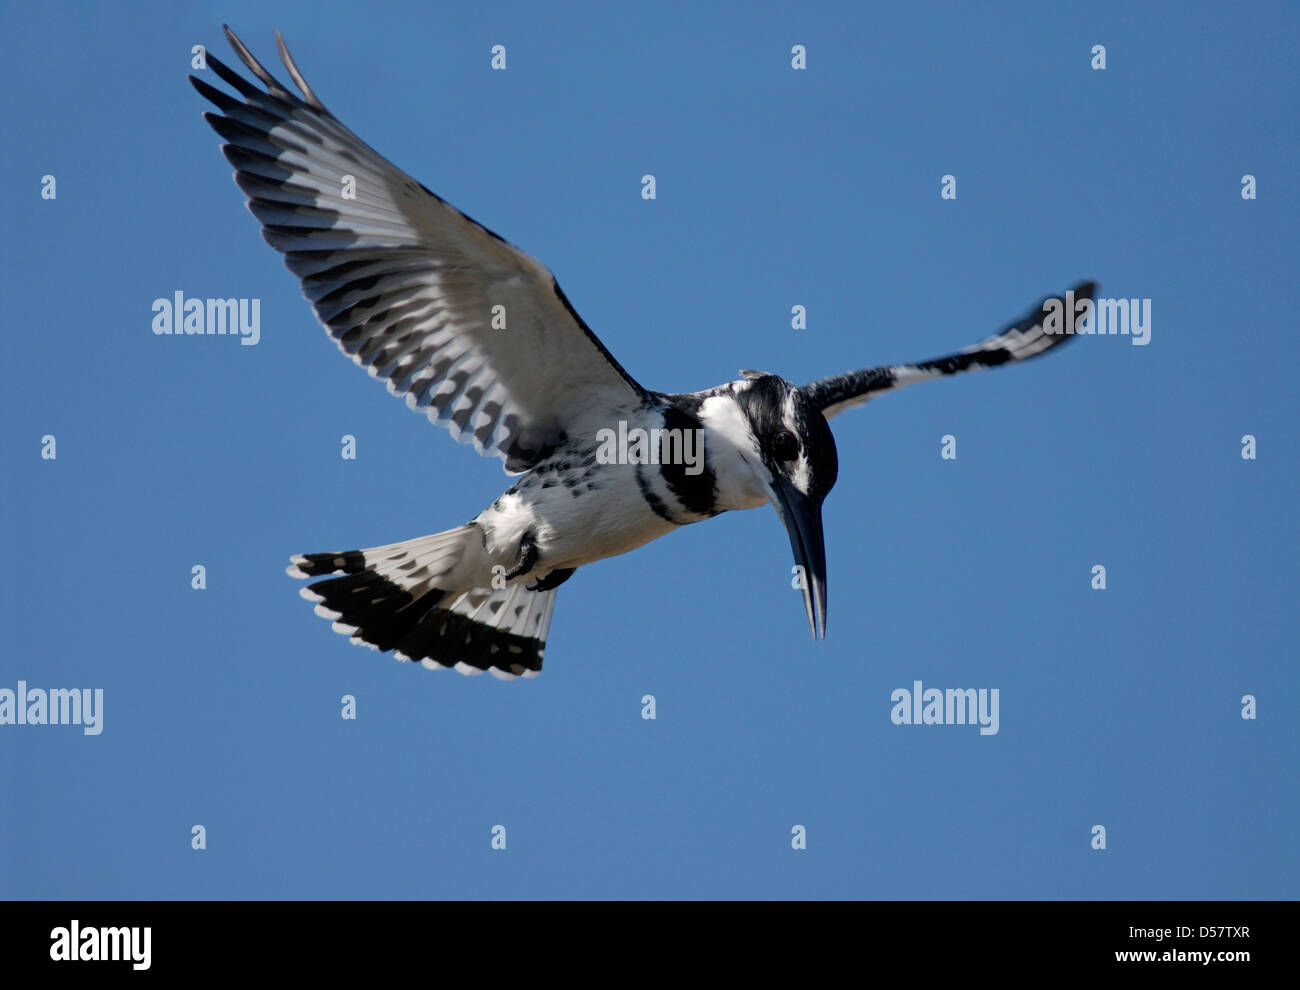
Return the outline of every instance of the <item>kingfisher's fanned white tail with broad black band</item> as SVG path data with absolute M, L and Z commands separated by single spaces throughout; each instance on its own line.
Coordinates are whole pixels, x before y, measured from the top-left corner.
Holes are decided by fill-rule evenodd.
M 555 589 L 529 591 L 523 582 L 502 589 L 455 587 L 452 572 L 480 539 L 473 524 L 370 550 L 291 557 L 290 577 L 330 576 L 299 594 L 334 631 L 399 660 L 454 666 L 463 674 L 512 679 L 536 677 L 555 608 Z

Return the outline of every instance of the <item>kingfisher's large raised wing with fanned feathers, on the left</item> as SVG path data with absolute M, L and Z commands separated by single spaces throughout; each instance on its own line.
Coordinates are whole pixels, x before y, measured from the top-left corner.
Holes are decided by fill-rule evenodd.
M 263 236 L 343 353 L 462 443 L 526 470 L 593 408 L 645 390 L 569 305 L 554 275 L 365 144 L 325 109 L 276 43 L 302 97 L 238 38 L 266 91 L 211 55 L 243 101 L 190 77 Z

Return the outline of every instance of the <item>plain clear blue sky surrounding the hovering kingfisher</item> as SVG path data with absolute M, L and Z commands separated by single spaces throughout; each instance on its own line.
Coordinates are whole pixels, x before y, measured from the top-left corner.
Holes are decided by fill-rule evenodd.
M 1300 894 L 1295 5 L 439 6 L 0 10 L 0 689 L 104 692 L 98 735 L 0 725 L 0 896 Z M 261 242 L 185 79 L 235 61 L 222 22 L 268 65 L 281 29 L 647 387 L 948 353 L 1082 278 L 1149 299 L 1150 342 L 835 420 L 824 642 L 764 508 L 580 570 L 534 681 L 398 664 L 287 556 L 507 478 Z M 178 290 L 260 299 L 259 344 L 156 336 Z M 997 689 L 998 733 L 894 725 L 918 679 Z

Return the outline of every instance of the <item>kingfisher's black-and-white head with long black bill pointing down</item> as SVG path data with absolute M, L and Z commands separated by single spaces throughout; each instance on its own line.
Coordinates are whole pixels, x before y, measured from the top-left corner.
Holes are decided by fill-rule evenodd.
M 776 508 L 800 566 L 803 608 L 812 638 L 826 635 L 826 539 L 822 501 L 835 487 L 840 459 L 822 411 L 775 374 L 742 372 L 736 400 L 755 457 L 748 464 L 755 487 Z

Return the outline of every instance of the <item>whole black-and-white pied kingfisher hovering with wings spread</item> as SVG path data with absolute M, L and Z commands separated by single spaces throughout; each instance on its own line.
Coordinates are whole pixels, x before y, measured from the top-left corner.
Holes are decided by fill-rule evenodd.
M 827 420 L 893 388 L 1023 361 L 1069 340 L 1060 296 L 965 351 L 796 386 L 741 372 L 699 392 L 640 385 L 529 255 L 460 213 L 344 127 L 280 32 L 299 94 L 226 27 L 260 88 L 208 55 L 242 99 L 194 75 L 204 118 L 339 349 L 514 485 L 464 526 L 369 550 L 303 553 L 289 574 L 354 643 L 424 666 L 536 677 L 556 589 L 679 526 L 771 503 L 785 524 L 814 638 L 826 633 L 822 503 L 837 455 Z M 1078 303 L 1091 282 L 1075 286 Z M 1066 301 L 1071 296 L 1066 295 Z

